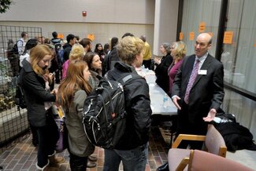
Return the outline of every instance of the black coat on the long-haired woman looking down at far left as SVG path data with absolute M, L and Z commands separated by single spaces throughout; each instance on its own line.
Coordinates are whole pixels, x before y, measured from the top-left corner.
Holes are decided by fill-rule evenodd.
M 55 95 L 46 91 L 43 77 L 35 74 L 28 60 L 23 60 L 18 82 L 24 90 L 28 121 L 32 126 L 46 126 L 44 102 L 54 102 Z

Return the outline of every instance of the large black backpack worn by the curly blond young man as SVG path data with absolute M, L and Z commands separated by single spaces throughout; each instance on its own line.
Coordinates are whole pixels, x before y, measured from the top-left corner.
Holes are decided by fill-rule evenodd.
M 119 78 L 118 82 L 99 78 L 98 88 L 87 96 L 83 107 L 87 138 L 95 146 L 106 149 L 116 147 L 126 128 L 123 86 L 141 76 L 125 73 Z

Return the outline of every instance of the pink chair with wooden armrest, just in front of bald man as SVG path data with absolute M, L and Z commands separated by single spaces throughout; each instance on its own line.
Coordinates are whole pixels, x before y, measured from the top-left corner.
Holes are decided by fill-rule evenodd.
M 198 140 L 204 141 L 204 151 L 208 151 L 214 155 L 219 155 L 221 157 L 226 156 L 227 147 L 224 143 L 224 139 L 221 136 L 221 133 L 215 129 L 213 125 L 208 127 L 206 136 L 198 136 L 198 135 L 187 135 L 187 134 L 180 134 L 173 143 L 171 149 L 169 149 L 168 153 L 168 163 L 169 163 L 169 170 L 176 170 L 177 166 L 179 166 L 180 162 L 184 158 L 189 158 L 190 149 L 180 149 L 176 148 L 179 146 L 182 140 Z M 187 162 L 184 160 L 183 162 Z

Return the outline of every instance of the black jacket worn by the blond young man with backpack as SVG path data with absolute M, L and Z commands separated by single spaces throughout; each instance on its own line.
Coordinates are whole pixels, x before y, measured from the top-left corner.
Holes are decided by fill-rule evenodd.
M 136 73 L 135 68 L 127 64 L 117 62 L 114 69 L 107 74 L 108 78 L 115 80 L 111 75 L 114 73 Z M 151 107 L 149 86 L 145 78 L 137 78 L 124 86 L 125 111 L 127 111 L 127 125 L 124 136 L 117 144 L 118 150 L 132 150 L 149 140 L 151 126 Z

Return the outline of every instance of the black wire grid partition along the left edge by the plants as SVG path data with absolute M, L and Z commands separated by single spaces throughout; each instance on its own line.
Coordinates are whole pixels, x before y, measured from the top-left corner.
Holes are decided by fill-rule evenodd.
M 27 110 L 15 105 L 19 56 L 9 53 L 8 47 L 20 39 L 22 31 L 28 32 L 28 38 L 42 35 L 40 27 L 0 25 L 0 154 L 29 131 Z

